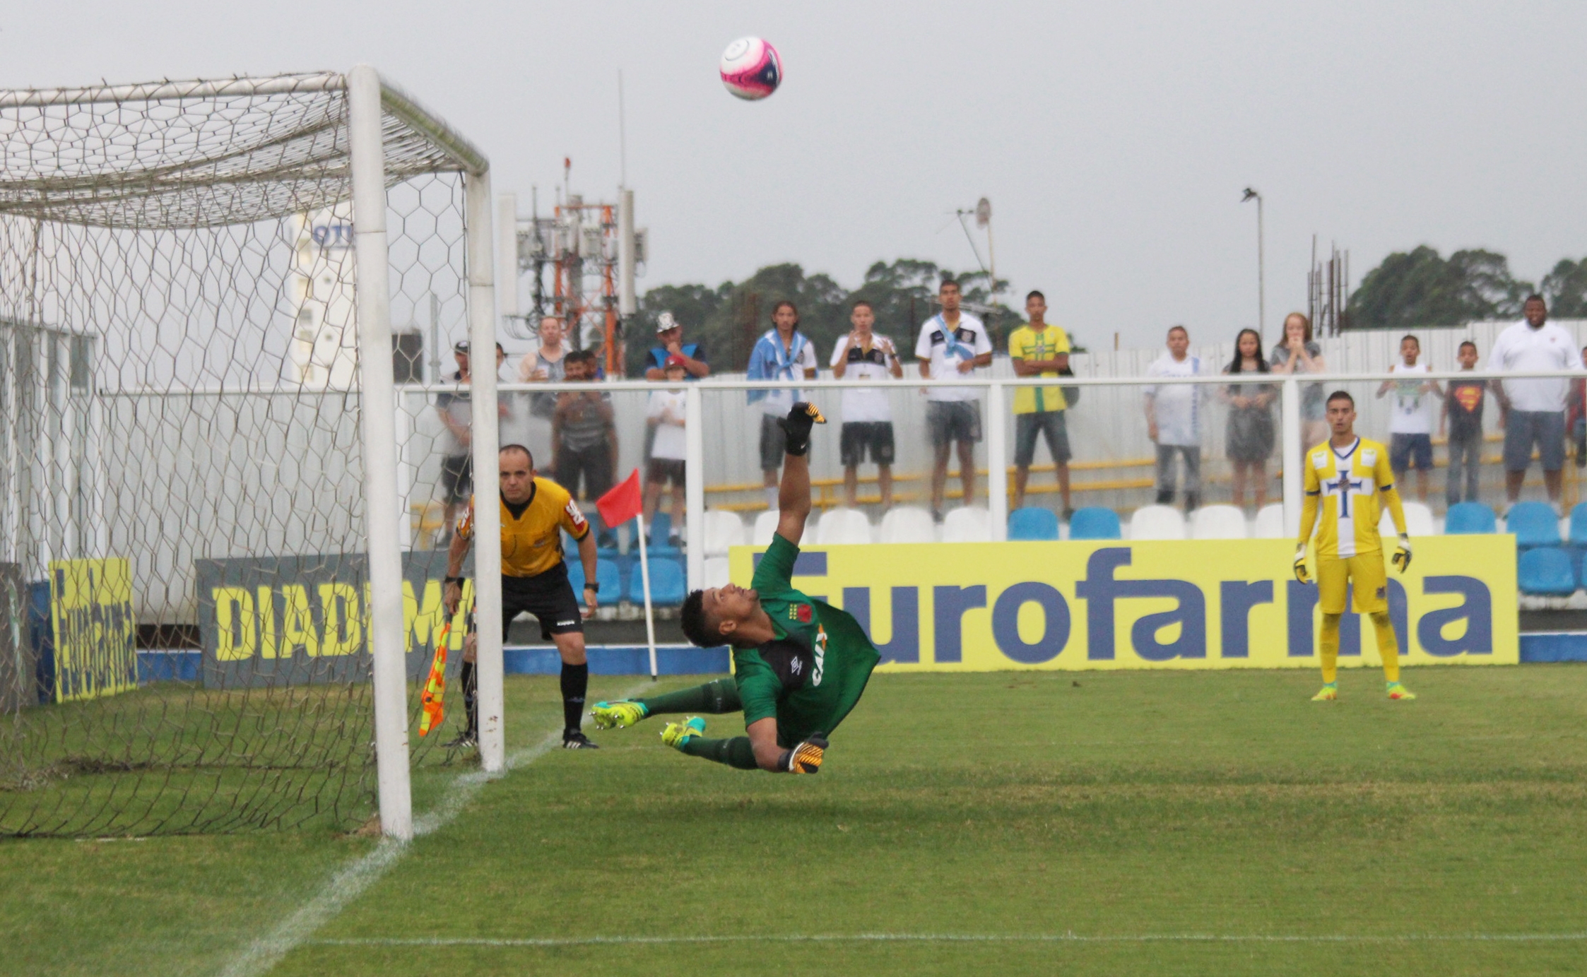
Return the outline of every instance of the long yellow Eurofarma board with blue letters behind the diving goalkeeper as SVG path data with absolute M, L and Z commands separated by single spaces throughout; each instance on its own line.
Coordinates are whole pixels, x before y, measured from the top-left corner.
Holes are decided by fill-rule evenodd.
M 1409 665 L 1519 661 L 1514 536 L 1428 536 L 1389 573 Z M 735 547 L 747 587 L 762 550 Z M 1314 668 L 1317 587 L 1285 539 L 813 547 L 794 585 L 843 607 L 889 671 Z M 1339 665 L 1381 665 L 1346 614 Z

